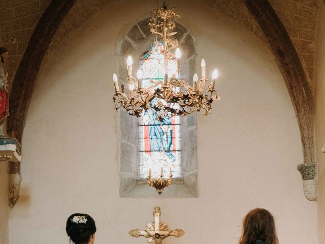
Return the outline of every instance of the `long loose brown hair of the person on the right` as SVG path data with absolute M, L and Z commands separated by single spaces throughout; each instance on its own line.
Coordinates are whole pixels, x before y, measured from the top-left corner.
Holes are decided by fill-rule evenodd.
M 267 244 L 278 244 L 274 218 L 264 208 L 254 208 L 243 220 L 242 235 L 239 244 L 251 244 L 256 240 L 264 240 Z

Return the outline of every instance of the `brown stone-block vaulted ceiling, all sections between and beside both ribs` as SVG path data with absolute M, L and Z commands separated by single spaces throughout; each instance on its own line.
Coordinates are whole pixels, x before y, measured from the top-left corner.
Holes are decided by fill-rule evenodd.
M 324 0 L 325 1 L 325 0 Z M 42 13 L 50 0 L 3 0 L 0 3 L 0 43 L 9 48 L 10 56 L 6 68 L 14 79 L 22 55 Z M 77 0 L 71 11 L 59 26 L 47 51 L 44 63 L 59 46 L 96 12 L 113 0 Z M 216 11 L 221 11 L 237 20 L 264 44 L 269 45 L 254 17 L 249 13 L 243 0 L 201 0 Z M 302 61 L 310 85 L 313 87 L 315 32 L 317 0 L 270 0 Z

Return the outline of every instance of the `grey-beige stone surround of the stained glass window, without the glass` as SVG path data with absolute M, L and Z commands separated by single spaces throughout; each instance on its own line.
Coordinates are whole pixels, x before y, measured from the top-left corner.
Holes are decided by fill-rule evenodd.
M 134 72 L 137 71 L 138 58 L 147 51 L 154 39 L 150 33 L 146 18 L 135 24 L 120 42 L 119 80 L 125 80 L 126 58 L 134 58 Z M 194 40 L 189 31 L 180 23 L 176 24 L 174 36 L 179 41 L 182 50 L 181 77 L 189 82 L 192 80 L 196 68 L 196 49 Z M 197 162 L 197 115 L 191 114 L 181 118 L 181 167 L 182 177 L 173 178 L 172 184 L 164 189 L 159 196 L 154 188 L 148 187 L 146 179 L 139 175 L 139 118 L 129 115 L 125 110 L 119 110 L 119 175 L 120 197 L 198 197 L 198 162 Z

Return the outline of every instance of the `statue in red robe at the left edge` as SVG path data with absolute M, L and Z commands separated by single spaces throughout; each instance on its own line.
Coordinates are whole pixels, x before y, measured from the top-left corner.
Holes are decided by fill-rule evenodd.
M 3 135 L 3 124 L 9 115 L 9 96 L 8 96 L 8 72 L 5 69 L 5 60 L 8 57 L 8 50 L 0 47 L 0 134 Z

